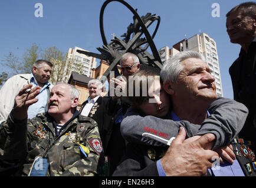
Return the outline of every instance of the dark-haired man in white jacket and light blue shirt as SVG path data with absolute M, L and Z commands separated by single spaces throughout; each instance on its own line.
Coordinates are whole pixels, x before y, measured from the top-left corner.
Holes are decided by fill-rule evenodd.
M 6 80 L 4 86 L 0 90 L 0 123 L 7 119 L 9 113 L 14 107 L 15 96 L 23 85 L 32 83 L 33 88 L 40 86 L 38 102 L 29 106 L 28 118 L 35 117 L 37 113 L 47 111 L 47 101 L 52 84 L 48 82 L 51 78 L 52 63 L 47 60 L 39 59 L 32 66 L 32 73 L 19 74 L 12 76 Z

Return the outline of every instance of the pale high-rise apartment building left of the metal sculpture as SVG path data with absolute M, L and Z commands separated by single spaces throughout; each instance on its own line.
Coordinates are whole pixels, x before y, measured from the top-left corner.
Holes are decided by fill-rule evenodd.
M 80 73 L 82 75 L 86 75 L 88 77 L 91 77 L 93 74 L 93 68 L 96 68 L 97 61 L 96 58 L 87 56 L 83 53 L 78 53 L 78 50 L 86 51 L 83 48 L 75 47 L 68 49 L 68 58 L 71 59 L 72 66 L 70 67 L 70 74 L 72 71 Z M 87 51 L 88 52 L 88 51 Z M 68 75 L 68 78 L 70 75 Z

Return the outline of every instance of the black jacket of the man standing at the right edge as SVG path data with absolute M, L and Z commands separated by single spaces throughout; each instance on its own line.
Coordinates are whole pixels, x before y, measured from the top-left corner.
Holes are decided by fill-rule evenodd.
M 256 38 L 251 42 L 248 52 L 241 48 L 239 57 L 229 68 L 234 100 L 243 103 L 249 110 L 247 121 L 239 133 L 247 141 L 256 143 Z

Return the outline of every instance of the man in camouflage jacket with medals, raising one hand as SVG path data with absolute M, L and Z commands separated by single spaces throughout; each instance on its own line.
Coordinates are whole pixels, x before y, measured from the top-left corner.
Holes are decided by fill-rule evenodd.
M 46 176 L 94 176 L 100 169 L 102 145 L 97 123 L 76 110 L 78 91 L 67 83 L 55 85 L 48 113 L 27 120 L 27 108 L 37 102 L 38 89 L 24 86 L 16 106 L 0 125 L 1 158 L 19 162 L 19 173 L 27 176 L 36 156 L 49 163 Z M 70 88 L 70 92 L 68 89 Z M 76 95 L 77 93 L 77 95 Z M 24 118 L 25 117 L 25 118 Z

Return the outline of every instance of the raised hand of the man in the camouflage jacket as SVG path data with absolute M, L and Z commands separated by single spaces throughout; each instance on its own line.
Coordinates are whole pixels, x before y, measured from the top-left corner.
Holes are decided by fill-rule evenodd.
M 40 93 L 40 87 L 35 86 L 32 88 L 32 83 L 24 85 L 15 97 L 15 107 L 12 110 L 12 115 L 16 120 L 24 120 L 28 116 L 28 107 L 38 101 L 35 98 Z M 29 92 L 26 92 L 31 89 Z

